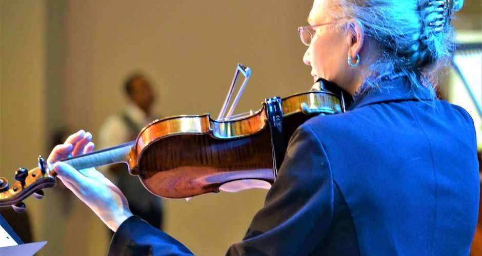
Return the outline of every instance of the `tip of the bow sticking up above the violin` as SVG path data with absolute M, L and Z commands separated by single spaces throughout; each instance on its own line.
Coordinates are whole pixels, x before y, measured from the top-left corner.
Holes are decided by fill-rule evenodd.
M 245 76 L 245 80 L 243 81 L 242 86 L 239 88 L 239 91 L 237 92 L 236 97 L 231 103 L 231 107 L 229 108 L 228 114 L 226 114 L 226 110 L 228 109 L 228 103 L 231 101 L 231 98 L 233 96 L 234 86 L 236 85 L 236 81 L 238 79 L 239 73 Z M 229 120 L 231 118 L 234 110 L 236 109 L 236 105 L 239 102 L 239 98 L 243 94 L 243 91 L 246 87 L 246 84 L 248 84 L 250 77 L 251 77 L 251 69 L 246 66 L 243 66 L 241 63 L 238 63 L 236 70 L 234 72 L 233 81 L 231 82 L 231 86 L 228 91 L 228 95 L 226 95 L 226 99 L 224 101 L 223 107 L 221 108 L 221 111 L 219 112 L 217 120 Z

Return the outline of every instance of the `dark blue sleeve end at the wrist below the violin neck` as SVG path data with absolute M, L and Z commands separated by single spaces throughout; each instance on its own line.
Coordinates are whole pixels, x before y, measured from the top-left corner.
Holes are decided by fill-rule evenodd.
M 125 220 L 110 242 L 112 256 L 194 255 L 183 244 L 137 216 Z

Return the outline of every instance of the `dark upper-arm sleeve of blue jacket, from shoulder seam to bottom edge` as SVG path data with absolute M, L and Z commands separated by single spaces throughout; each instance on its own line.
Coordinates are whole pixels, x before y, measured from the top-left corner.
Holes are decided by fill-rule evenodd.
M 306 255 L 333 217 L 333 181 L 322 143 L 307 125 L 290 139 L 278 177 L 245 238 L 227 255 Z

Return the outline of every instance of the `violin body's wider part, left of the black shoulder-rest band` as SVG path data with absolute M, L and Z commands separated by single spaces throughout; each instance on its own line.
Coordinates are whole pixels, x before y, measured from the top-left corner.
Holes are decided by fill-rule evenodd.
M 137 140 L 140 152 L 130 168 L 151 193 L 167 198 L 185 198 L 218 192 L 226 182 L 259 179 L 273 182 L 271 139 L 263 112 L 236 123 L 239 134 L 219 138 L 209 115 L 159 120 L 144 130 Z M 244 126 L 250 123 L 248 126 Z M 201 124 L 201 125 L 197 125 Z M 172 129 L 189 126 L 189 132 Z M 166 126 L 170 129 L 165 130 Z M 218 128 L 218 127 L 217 127 Z M 244 129 L 253 134 L 242 136 Z M 175 131 L 160 137 L 153 133 Z M 150 139 L 153 139 L 150 141 Z

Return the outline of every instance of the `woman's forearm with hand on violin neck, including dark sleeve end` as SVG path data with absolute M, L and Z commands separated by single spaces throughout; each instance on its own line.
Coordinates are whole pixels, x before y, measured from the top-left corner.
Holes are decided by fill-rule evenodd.
M 168 234 L 133 216 L 121 190 L 95 168 L 76 170 L 66 163 L 56 162 L 69 155 L 92 152 L 94 143 L 91 140 L 90 133 L 78 131 L 64 144 L 55 146 L 47 162 L 53 164 L 53 170 L 65 186 L 115 232 L 109 255 L 192 255 Z

